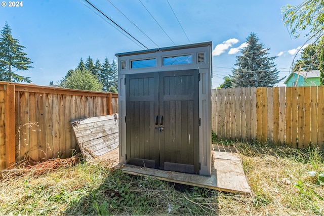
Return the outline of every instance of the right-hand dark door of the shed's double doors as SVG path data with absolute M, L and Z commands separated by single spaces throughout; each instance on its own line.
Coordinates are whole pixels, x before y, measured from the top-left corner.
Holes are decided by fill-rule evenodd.
M 198 70 L 159 73 L 160 168 L 199 173 Z

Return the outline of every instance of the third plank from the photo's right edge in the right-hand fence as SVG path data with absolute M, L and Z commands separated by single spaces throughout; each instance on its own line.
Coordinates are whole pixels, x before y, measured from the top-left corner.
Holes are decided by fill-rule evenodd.
M 310 122 L 311 122 L 311 111 L 310 111 L 310 87 L 304 87 L 304 148 L 308 148 L 310 142 Z

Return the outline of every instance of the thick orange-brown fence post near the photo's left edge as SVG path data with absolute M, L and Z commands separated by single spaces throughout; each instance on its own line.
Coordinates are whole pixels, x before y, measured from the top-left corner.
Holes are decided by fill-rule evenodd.
M 6 167 L 13 165 L 16 161 L 16 138 L 15 138 L 15 85 L 6 85 L 5 98 L 5 132 L 6 132 Z

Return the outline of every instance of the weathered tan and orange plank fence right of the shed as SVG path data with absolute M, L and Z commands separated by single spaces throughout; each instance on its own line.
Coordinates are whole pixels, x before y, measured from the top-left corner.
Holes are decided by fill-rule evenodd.
M 222 139 L 324 147 L 324 86 L 212 90 L 212 129 Z

